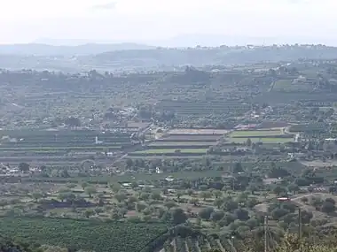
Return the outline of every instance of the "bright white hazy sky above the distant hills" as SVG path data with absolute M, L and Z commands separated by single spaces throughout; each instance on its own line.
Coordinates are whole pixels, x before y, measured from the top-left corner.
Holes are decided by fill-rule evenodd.
M 0 43 L 153 41 L 179 34 L 337 40 L 336 0 L 1 0 Z

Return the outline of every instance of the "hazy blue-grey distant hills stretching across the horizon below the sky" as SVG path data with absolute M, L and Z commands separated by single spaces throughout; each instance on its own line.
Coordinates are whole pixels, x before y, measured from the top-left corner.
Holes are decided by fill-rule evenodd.
M 225 43 L 223 43 L 225 44 Z M 260 45 L 217 47 L 157 47 L 141 43 L 82 45 L 0 45 L 0 68 L 86 72 L 174 70 L 184 65 L 246 65 L 261 62 L 335 59 L 337 47 L 325 45 Z

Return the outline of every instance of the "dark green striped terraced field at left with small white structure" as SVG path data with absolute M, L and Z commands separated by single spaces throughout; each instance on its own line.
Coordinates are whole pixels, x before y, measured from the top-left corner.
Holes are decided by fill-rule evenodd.
M 106 152 L 118 152 L 132 146 L 130 134 L 126 131 L 2 130 L 0 162 L 77 162 L 97 152 L 104 155 Z

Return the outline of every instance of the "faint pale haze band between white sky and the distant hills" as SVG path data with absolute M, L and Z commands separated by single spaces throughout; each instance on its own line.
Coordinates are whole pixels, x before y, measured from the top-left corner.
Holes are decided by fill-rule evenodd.
M 99 41 L 86 39 L 51 39 L 41 38 L 31 43 L 0 44 L 0 55 L 35 55 L 35 56 L 84 56 L 96 55 L 116 50 L 153 50 L 157 47 L 219 47 L 272 44 L 326 44 L 335 45 L 336 40 L 310 37 L 259 37 L 223 34 L 181 34 L 165 40 L 149 41 L 139 39 L 132 42 Z

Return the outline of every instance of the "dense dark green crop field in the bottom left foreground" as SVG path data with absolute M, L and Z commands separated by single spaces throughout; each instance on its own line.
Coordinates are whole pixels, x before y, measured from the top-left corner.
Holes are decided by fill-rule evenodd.
M 56 218 L 0 218 L 0 234 L 27 242 L 94 251 L 138 251 L 167 230 L 161 224 L 128 224 Z

